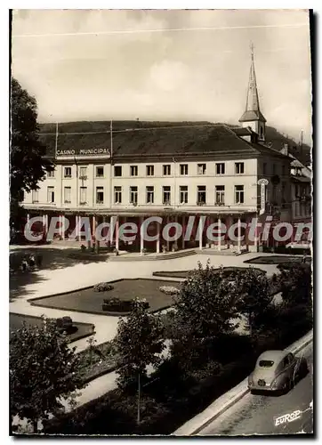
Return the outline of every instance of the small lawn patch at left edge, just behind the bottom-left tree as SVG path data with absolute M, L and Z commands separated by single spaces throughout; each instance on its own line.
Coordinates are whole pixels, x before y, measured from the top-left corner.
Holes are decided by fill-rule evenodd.
M 9 329 L 11 332 L 22 328 L 24 323 L 29 326 L 41 326 L 43 320 L 39 317 L 32 317 L 18 313 L 9 314 Z M 73 328 L 73 332 L 68 335 L 70 343 L 76 342 L 76 340 L 84 338 L 85 336 L 91 336 L 94 333 L 94 325 L 88 323 L 73 322 Z

